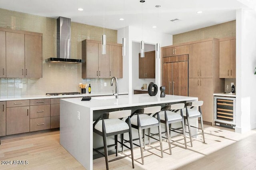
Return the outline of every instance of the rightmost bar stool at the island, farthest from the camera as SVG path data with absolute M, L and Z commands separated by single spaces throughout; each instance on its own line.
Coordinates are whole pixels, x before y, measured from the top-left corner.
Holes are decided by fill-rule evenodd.
M 202 110 L 201 110 L 201 106 L 203 105 L 203 103 L 204 103 L 204 101 L 189 102 L 189 103 L 186 103 L 185 104 L 186 107 L 182 109 L 182 111 L 184 113 L 183 116 L 184 116 L 185 122 L 187 120 L 187 123 L 188 123 L 188 125 L 186 125 L 186 126 L 188 126 L 188 132 L 189 132 L 191 147 L 193 147 L 192 137 L 197 136 L 199 134 L 203 135 L 203 141 L 205 143 L 205 139 L 204 139 L 204 125 L 203 125 L 203 117 L 202 117 Z M 193 109 L 194 107 L 198 107 L 199 111 Z M 194 118 L 197 119 L 198 117 L 200 118 L 201 128 L 194 127 L 194 126 L 190 125 L 190 119 L 194 119 Z M 191 127 L 201 129 L 202 132 L 192 135 L 191 134 Z

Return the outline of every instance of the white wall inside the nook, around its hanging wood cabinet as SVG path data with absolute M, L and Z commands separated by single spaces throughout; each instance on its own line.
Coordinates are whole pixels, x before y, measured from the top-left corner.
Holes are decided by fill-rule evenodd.
M 155 45 L 144 44 L 144 51 L 154 51 Z M 132 89 L 141 89 L 143 84 L 147 84 L 147 87 L 150 82 L 155 83 L 155 79 L 139 79 L 139 54 L 140 53 L 140 43 L 132 42 Z

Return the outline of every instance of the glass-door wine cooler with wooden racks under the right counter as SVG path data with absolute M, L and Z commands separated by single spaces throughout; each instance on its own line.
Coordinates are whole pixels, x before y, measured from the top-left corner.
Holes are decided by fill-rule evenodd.
M 214 121 L 216 125 L 235 128 L 236 98 L 214 96 Z

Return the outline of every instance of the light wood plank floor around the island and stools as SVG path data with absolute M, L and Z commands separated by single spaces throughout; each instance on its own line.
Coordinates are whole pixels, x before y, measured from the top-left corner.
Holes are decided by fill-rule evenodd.
M 206 125 L 205 125 L 206 126 Z M 245 134 L 223 127 L 205 127 L 206 143 L 201 137 L 188 143 L 188 149 L 172 146 L 172 155 L 168 152 L 168 144 L 164 144 L 164 158 L 160 158 L 159 150 L 144 152 L 144 165 L 140 164 L 140 150 L 134 150 L 136 170 L 171 170 L 171 169 L 256 169 L 256 131 Z M 178 137 L 177 137 L 178 138 Z M 188 140 L 188 138 L 187 138 Z M 154 144 L 157 146 L 158 144 Z M 154 146 L 153 145 L 153 146 Z M 125 154 L 129 154 L 126 152 Z M 114 158 L 111 155 L 110 158 Z M 26 165 L 2 165 L 0 169 L 84 169 L 60 144 L 59 131 L 41 131 L 1 137 L 0 160 L 28 161 Z M 110 162 L 110 169 L 132 169 L 130 158 Z M 104 170 L 104 158 L 93 162 L 93 168 Z

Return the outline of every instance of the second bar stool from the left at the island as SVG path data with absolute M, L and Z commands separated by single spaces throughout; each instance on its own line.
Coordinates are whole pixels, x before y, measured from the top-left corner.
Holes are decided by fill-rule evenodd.
M 144 133 L 143 135 L 144 148 L 145 148 L 145 136 L 153 138 L 152 136 L 145 134 L 145 129 L 147 128 L 158 127 L 159 140 L 156 138 L 154 139 L 160 142 L 161 157 L 163 158 L 163 146 L 162 146 L 162 136 L 161 136 L 162 133 L 161 133 L 160 117 L 159 117 L 160 111 L 161 111 L 161 106 L 145 107 L 143 109 L 136 110 L 134 113 L 132 113 L 132 116 L 130 118 L 132 127 L 138 129 L 140 145 L 135 143 L 133 144 L 140 147 L 142 165 L 144 165 L 143 150 L 148 151 L 148 150 L 159 147 L 159 146 L 156 146 L 156 147 L 151 147 L 149 149 L 143 149 L 142 130 Z M 157 115 L 157 119 L 155 117 L 152 117 L 152 115 Z

